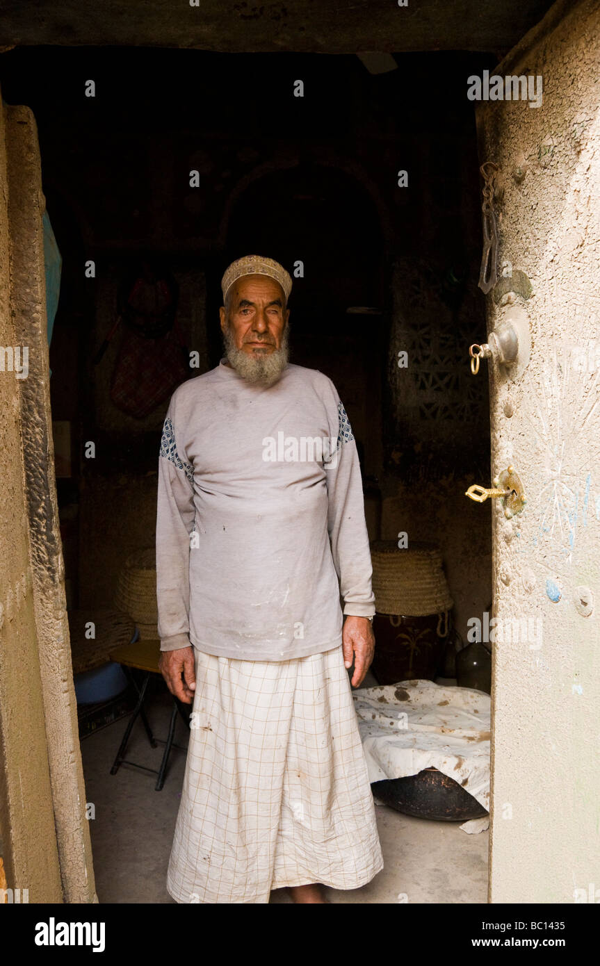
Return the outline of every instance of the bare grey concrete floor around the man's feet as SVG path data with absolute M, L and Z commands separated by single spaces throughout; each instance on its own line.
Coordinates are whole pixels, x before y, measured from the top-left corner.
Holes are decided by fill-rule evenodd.
M 373 682 L 365 682 L 365 686 Z M 151 725 L 166 736 L 168 695 L 149 705 Z M 186 754 L 171 753 L 162 791 L 156 776 L 123 765 L 110 775 L 127 719 L 85 738 L 81 743 L 88 803 L 95 806 L 91 822 L 94 869 L 100 902 L 172 903 L 165 888 L 166 867 L 184 780 Z M 186 744 L 186 727 L 178 721 L 177 744 Z M 157 768 L 162 746 L 153 750 L 141 723 L 133 728 L 127 756 Z M 327 889 L 330 902 L 359 903 L 483 903 L 487 901 L 488 833 L 467 835 L 455 822 L 411 818 L 376 805 L 385 868 L 371 882 L 352 892 Z M 271 903 L 290 902 L 286 890 L 271 895 Z

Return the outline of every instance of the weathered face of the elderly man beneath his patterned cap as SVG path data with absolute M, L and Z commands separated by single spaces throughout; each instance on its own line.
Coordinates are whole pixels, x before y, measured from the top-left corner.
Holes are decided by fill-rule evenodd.
M 281 347 L 290 315 L 281 286 L 266 275 L 244 275 L 235 282 L 220 309 L 221 330 L 247 355 L 271 355 Z

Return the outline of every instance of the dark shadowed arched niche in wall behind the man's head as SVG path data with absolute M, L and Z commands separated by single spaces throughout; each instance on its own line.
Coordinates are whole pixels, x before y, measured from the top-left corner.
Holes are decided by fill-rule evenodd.
M 232 191 L 208 284 L 211 319 L 221 273 L 234 259 L 263 254 L 290 270 L 291 361 L 333 380 L 367 475 L 381 468 L 391 234 L 377 187 L 358 165 L 323 152 L 275 159 L 254 168 Z M 348 312 L 361 307 L 378 314 Z M 215 364 L 220 332 L 208 328 Z

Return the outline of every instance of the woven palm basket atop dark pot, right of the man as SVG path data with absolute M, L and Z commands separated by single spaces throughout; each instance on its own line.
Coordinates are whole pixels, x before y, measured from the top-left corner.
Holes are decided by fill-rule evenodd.
M 442 554 L 435 545 L 414 543 L 399 550 L 394 540 L 376 540 L 371 560 L 378 613 L 425 617 L 452 607 Z

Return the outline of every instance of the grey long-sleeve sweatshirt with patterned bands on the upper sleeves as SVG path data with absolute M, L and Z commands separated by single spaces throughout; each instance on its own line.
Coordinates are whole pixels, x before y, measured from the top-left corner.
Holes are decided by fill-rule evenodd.
M 285 661 L 375 613 L 357 447 L 335 386 L 288 365 L 269 388 L 224 360 L 179 386 L 158 460 L 158 636 Z

